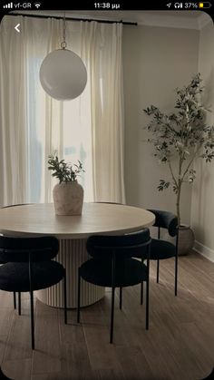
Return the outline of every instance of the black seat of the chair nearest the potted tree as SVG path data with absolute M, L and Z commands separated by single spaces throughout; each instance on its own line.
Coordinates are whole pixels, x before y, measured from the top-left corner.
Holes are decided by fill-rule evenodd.
M 151 260 L 173 258 L 176 255 L 176 247 L 170 241 L 151 239 Z

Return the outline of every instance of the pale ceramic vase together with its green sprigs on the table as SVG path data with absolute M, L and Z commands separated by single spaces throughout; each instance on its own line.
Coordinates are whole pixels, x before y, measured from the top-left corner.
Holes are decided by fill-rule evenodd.
M 53 188 L 53 204 L 56 215 L 81 215 L 83 210 L 83 187 L 77 176 L 83 172 L 83 164 L 59 161 L 56 152 L 48 156 L 48 170 L 59 180 Z

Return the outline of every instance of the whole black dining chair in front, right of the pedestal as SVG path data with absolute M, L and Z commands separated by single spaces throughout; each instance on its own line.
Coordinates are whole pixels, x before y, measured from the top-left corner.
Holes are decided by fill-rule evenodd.
M 77 322 L 80 322 L 81 278 L 101 287 L 112 287 L 110 343 L 113 339 L 115 287 L 131 287 L 146 282 L 146 329 L 149 329 L 149 278 L 150 278 L 150 230 L 122 236 L 93 235 L 87 239 L 86 248 L 92 257 L 85 261 L 78 272 Z M 146 264 L 132 258 L 145 248 Z M 121 295 L 121 293 L 120 293 Z

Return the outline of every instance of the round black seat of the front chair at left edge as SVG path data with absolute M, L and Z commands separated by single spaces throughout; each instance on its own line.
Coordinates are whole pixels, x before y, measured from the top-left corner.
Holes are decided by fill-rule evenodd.
M 64 268 L 56 261 L 33 262 L 32 275 L 33 289 L 44 289 L 52 287 L 63 278 Z M 0 288 L 5 291 L 29 291 L 29 264 L 10 262 L 2 265 L 0 267 Z

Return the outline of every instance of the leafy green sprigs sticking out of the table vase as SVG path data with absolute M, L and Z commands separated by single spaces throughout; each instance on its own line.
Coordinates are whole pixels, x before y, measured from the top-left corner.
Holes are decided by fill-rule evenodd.
M 78 164 L 71 164 L 59 161 L 56 152 L 48 156 L 48 170 L 53 171 L 52 176 L 58 178 L 60 183 L 77 181 L 77 176 L 83 172 L 83 163 L 78 160 Z

